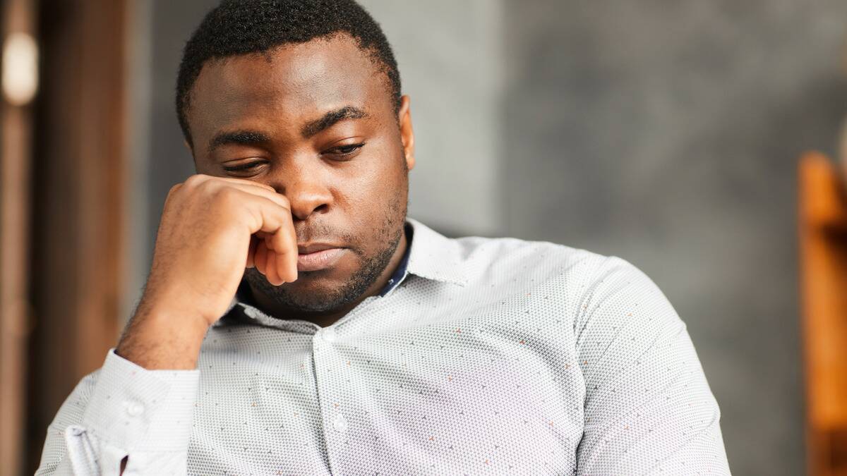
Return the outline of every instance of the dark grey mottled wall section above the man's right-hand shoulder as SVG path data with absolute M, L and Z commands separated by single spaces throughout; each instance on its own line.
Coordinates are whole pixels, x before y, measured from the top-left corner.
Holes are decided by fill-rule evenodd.
M 802 473 L 795 168 L 834 149 L 847 3 L 506 4 L 504 231 L 644 269 L 734 473 Z

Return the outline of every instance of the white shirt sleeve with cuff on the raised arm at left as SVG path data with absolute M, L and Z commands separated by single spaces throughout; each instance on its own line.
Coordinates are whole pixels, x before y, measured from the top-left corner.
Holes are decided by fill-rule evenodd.
M 114 349 L 47 429 L 36 475 L 185 474 L 199 370 L 147 370 Z

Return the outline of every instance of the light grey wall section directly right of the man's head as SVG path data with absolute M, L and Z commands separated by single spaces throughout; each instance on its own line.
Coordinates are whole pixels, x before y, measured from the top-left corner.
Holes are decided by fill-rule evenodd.
M 409 214 L 441 230 L 497 234 L 500 208 L 500 2 L 362 0 L 394 47 L 412 98 L 417 164 Z

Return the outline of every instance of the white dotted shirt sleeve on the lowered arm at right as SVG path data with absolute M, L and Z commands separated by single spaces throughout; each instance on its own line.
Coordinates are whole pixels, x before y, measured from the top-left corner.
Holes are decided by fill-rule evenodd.
M 729 474 L 717 401 L 650 278 L 607 258 L 574 322 L 585 381 L 579 474 Z

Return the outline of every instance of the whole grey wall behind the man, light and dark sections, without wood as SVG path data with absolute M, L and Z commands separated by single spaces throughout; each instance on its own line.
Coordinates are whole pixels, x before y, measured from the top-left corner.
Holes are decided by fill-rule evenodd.
M 175 71 L 216 2 L 151 1 L 156 224 L 193 172 Z M 807 148 L 834 150 L 847 3 L 363 3 L 412 95 L 412 215 L 644 269 L 689 326 L 734 473 L 802 473 L 795 165 Z

